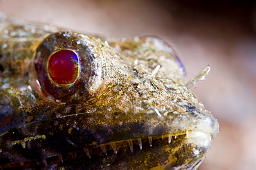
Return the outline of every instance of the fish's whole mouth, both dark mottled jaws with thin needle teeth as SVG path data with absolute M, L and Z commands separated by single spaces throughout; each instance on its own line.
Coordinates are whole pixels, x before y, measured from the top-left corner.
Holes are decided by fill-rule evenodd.
M 30 123 L 0 136 L 0 167 L 196 167 L 219 125 L 196 111 L 191 121 L 205 121 L 188 128 L 190 114 L 76 114 Z

